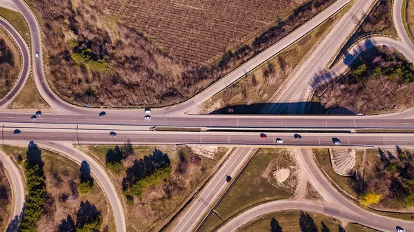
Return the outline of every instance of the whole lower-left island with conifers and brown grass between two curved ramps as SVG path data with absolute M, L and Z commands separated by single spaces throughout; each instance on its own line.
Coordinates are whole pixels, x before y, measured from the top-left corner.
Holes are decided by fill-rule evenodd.
M 28 184 L 27 213 L 19 228 L 115 231 L 112 211 L 99 185 L 95 184 L 88 194 L 79 192 L 82 172 L 79 164 L 33 145 L 29 150 L 17 146 L 2 148 L 23 168 Z M 37 206 L 41 207 L 34 209 Z

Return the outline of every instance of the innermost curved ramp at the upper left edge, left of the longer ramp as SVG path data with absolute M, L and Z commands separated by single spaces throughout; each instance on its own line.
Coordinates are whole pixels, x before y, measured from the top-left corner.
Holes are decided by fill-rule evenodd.
M 20 76 L 14 83 L 14 86 L 3 99 L 0 99 L 0 110 L 5 109 L 13 100 L 14 98 L 19 95 L 20 90 L 23 88 L 26 80 L 29 77 L 30 72 L 30 52 L 28 48 L 28 44 L 24 41 L 23 37 L 17 32 L 16 28 L 14 28 L 6 19 L 0 17 L 0 26 L 3 27 L 8 35 L 12 37 L 14 42 L 17 44 L 19 48 L 20 55 L 21 55 L 21 70 Z M 19 57 L 20 58 L 20 57 Z

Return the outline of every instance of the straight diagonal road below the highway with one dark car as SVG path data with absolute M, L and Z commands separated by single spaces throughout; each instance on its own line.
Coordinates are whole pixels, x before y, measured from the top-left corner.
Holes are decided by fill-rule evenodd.
M 222 164 L 217 173 L 196 195 L 194 202 L 190 204 L 186 213 L 180 216 L 172 231 L 194 231 L 203 216 L 214 206 L 221 193 L 228 188 L 229 183 L 226 181 L 226 177 L 229 175 L 234 180 L 240 169 L 253 155 L 252 152 L 252 148 L 235 148 L 229 154 L 228 160 Z

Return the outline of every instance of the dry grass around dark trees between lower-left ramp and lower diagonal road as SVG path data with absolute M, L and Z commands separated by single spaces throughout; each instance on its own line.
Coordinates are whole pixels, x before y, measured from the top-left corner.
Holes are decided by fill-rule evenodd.
M 105 163 L 106 151 L 115 146 L 81 146 L 81 150 L 97 157 L 103 164 Z M 134 204 L 127 205 L 126 210 L 128 219 L 137 231 L 159 231 L 168 220 L 177 213 L 187 197 L 190 196 L 195 187 L 206 181 L 206 178 L 213 171 L 217 161 L 226 153 L 226 148 L 219 148 L 215 155 L 215 160 L 204 157 L 195 157 L 188 152 L 185 146 L 133 146 L 134 155 L 124 160 L 124 170 L 112 172 L 116 184 L 121 191 L 122 180 L 126 174 L 126 168 L 132 166 L 134 160 L 139 160 L 144 155 L 152 155 L 155 148 L 166 153 L 170 159 L 172 172 L 165 182 L 152 186 L 144 191 L 142 199 L 135 197 Z M 186 151 L 188 161 L 185 171 L 179 173 L 178 151 Z M 125 199 L 126 200 L 126 199 Z

